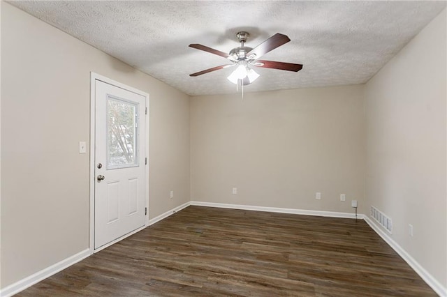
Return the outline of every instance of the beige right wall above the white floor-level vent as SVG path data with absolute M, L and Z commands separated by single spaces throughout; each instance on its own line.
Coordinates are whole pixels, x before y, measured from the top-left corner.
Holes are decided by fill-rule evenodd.
M 446 50 L 444 10 L 365 87 L 367 206 L 393 219 L 391 237 L 444 287 Z

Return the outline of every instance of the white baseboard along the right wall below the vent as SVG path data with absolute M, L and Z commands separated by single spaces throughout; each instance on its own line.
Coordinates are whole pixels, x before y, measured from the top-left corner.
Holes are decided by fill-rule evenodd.
M 446 297 L 447 296 L 447 288 L 445 288 L 440 282 L 438 282 L 428 271 L 423 268 L 423 266 L 420 266 L 418 261 L 413 259 L 411 255 L 406 252 L 398 243 L 396 243 L 393 238 L 388 236 L 386 232 L 384 232 L 381 227 L 379 227 L 373 220 L 371 220 L 367 215 L 365 215 L 364 218 L 365 222 L 369 224 L 369 227 L 371 227 L 374 231 L 376 231 L 376 234 L 379 234 L 381 238 L 390 245 L 397 254 L 406 261 L 407 264 L 411 268 L 413 268 L 413 271 L 418 273 L 418 275 L 435 291 L 439 296 Z

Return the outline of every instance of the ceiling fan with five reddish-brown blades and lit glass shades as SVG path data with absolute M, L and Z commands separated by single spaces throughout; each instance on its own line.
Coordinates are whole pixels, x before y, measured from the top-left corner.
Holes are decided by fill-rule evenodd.
M 203 50 L 205 52 L 210 52 L 211 54 L 217 54 L 218 56 L 223 56 L 223 58 L 226 58 L 232 62 L 231 64 L 225 64 L 205 69 L 199 71 L 198 73 L 190 74 L 189 76 L 195 77 L 198 75 L 203 75 L 205 73 L 210 73 L 215 70 L 237 66 L 236 70 L 234 70 L 233 73 L 231 73 L 230 76 L 228 76 L 228 80 L 230 80 L 230 82 L 233 82 L 234 84 L 247 85 L 251 84 L 251 82 L 254 82 L 254 80 L 259 77 L 258 73 L 256 73 L 251 68 L 251 66 L 288 70 L 294 72 L 298 72 L 299 70 L 302 69 L 301 64 L 258 60 L 264 54 L 267 54 L 268 52 L 274 50 L 275 48 L 280 47 L 281 45 L 284 45 L 285 43 L 291 41 L 290 38 L 288 38 L 284 34 L 276 33 L 274 34 L 274 36 L 268 38 L 255 48 L 245 46 L 245 42 L 249 37 L 249 33 L 245 31 L 240 31 L 236 34 L 236 37 L 237 40 L 239 40 L 240 42 L 240 47 L 235 47 L 233 50 L 230 50 L 228 54 L 226 52 L 214 50 L 211 47 L 207 47 L 205 45 L 199 45 L 196 43 L 189 45 L 189 47 L 193 47 L 197 50 Z

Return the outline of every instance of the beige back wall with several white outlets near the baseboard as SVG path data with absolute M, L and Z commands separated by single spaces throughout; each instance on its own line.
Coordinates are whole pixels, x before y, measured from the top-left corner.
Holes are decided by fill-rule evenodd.
M 191 98 L 191 200 L 353 213 L 364 195 L 362 89 Z

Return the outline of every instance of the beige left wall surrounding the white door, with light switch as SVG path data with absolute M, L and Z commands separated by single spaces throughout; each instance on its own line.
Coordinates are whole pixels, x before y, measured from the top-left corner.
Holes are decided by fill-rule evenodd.
M 1 46 L 2 288 L 89 247 L 90 71 L 149 93 L 149 218 L 189 201 L 189 96 L 3 1 Z

